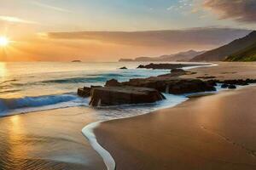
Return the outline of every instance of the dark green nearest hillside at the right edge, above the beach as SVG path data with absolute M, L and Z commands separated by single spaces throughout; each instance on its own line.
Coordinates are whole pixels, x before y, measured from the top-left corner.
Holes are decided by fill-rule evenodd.
M 256 61 L 256 42 L 236 54 L 231 54 L 225 61 Z

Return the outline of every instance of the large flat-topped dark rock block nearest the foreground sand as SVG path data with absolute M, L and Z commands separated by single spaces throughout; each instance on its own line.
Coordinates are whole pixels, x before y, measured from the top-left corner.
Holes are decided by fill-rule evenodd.
M 154 103 L 165 99 L 159 91 L 152 88 L 102 87 L 92 88 L 90 105 L 131 105 Z

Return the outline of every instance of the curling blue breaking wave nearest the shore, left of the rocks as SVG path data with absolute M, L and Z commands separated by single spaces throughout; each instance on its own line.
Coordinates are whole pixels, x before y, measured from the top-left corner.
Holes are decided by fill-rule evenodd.
M 75 94 L 55 94 L 36 97 L 24 97 L 3 99 L 0 98 L 0 112 L 12 111 L 16 109 L 40 107 L 44 105 L 55 105 L 62 102 L 68 102 L 78 99 Z

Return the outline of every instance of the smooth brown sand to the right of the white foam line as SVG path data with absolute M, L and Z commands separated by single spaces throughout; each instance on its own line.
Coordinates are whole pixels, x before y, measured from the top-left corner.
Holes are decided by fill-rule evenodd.
M 117 170 L 253 170 L 255 101 L 256 87 L 189 99 L 148 115 L 103 122 L 96 138 Z

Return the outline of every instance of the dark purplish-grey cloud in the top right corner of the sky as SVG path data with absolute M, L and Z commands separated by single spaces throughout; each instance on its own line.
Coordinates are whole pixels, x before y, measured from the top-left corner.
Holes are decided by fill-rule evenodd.
M 204 7 L 217 13 L 221 20 L 256 23 L 255 0 L 205 0 Z

